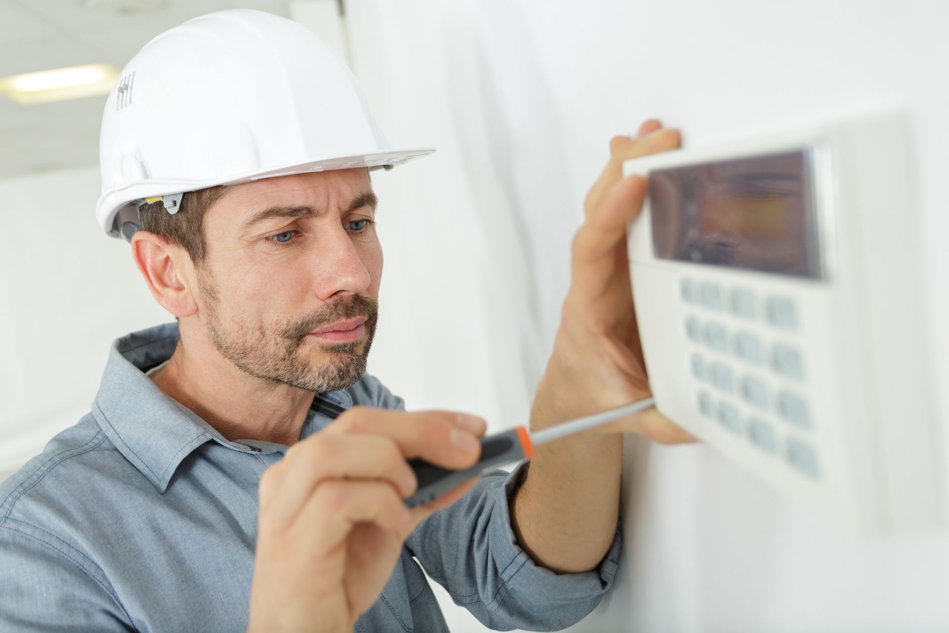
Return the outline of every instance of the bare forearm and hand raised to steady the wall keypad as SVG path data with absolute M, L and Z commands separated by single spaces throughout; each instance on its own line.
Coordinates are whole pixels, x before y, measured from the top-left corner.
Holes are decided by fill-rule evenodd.
M 642 210 L 646 180 L 623 178 L 623 161 L 676 147 L 679 132 L 656 120 L 643 122 L 635 139 L 610 140 L 609 161 L 586 195 L 584 225 L 571 243 L 570 289 L 531 429 L 649 395 L 625 232 Z M 584 571 L 601 562 L 616 530 L 625 431 L 663 443 L 695 441 L 650 409 L 539 448 L 511 503 L 514 533 L 535 563 Z

